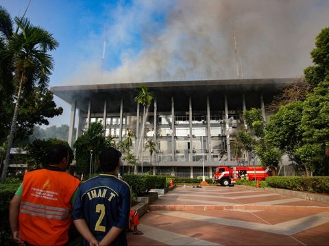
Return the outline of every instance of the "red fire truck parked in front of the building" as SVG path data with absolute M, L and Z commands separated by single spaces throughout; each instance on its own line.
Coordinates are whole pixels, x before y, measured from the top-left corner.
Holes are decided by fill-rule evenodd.
M 267 167 L 231 167 L 219 166 L 214 174 L 215 182 L 219 182 L 222 186 L 228 186 L 235 180 L 265 180 L 269 176 L 269 168 Z

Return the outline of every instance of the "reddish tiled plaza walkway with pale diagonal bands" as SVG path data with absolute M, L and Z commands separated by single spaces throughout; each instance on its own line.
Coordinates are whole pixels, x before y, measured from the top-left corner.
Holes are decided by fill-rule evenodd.
M 329 245 L 329 204 L 239 187 L 177 187 L 128 245 Z

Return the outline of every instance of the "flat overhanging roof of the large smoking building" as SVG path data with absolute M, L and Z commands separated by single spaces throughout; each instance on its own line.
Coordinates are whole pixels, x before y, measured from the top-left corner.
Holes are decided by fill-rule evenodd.
M 136 96 L 138 88 L 146 85 L 153 92 L 158 94 L 207 94 L 209 92 L 250 92 L 250 91 L 275 91 L 278 92 L 287 85 L 293 83 L 296 78 L 277 79 L 220 79 L 220 80 L 199 80 L 199 81 L 159 81 L 141 83 L 107 83 L 96 85 L 64 85 L 54 86 L 50 90 L 62 100 L 72 104 L 76 100 L 87 100 L 104 95 L 118 95 L 129 93 Z

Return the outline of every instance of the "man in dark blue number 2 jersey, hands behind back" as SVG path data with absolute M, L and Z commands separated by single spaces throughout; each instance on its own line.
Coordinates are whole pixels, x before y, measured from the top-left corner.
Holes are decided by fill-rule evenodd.
M 121 152 L 110 147 L 99 153 L 101 174 L 80 186 L 72 218 L 84 237 L 82 245 L 127 245 L 131 193 L 117 178 Z

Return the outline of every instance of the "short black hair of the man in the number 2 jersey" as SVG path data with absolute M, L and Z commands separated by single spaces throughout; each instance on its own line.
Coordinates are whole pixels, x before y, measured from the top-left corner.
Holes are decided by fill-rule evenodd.
M 121 157 L 121 152 L 113 147 L 107 147 L 101 150 L 98 155 L 99 168 L 103 172 L 112 172 L 117 167 Z

